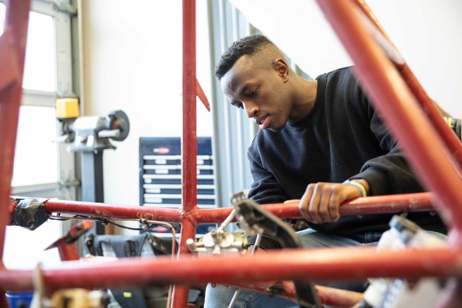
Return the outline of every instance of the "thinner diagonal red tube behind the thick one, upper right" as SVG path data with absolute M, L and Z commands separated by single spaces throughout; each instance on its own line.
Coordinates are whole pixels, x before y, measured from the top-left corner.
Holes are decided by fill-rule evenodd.
M 364 2 L 364 0 L 356 0 L 361 10 L 369 17 L 369 20 L 375 24 L 375 26 L 380 30 L 380 32 L 387 38 L 390 44 L 393 44 L 391 38 L 387 35 L 383 27 L 378 22 L 375 15 L 372 13 L 369 6 Z M 403 65 L 395 64 L 399 73 L 401 74 L 403 80 L 414 93 L 417 102 L 427 113 L 430 121 L 439 132 L 441 138 L 445 141 L 450 152 L 454 158 L 458 161 L 459 166 L 462 166 L 462 143 L 457 138 L 454 131 L 448 126 L 444 118 L 441 116 L 441 112 L 438 110 L 436 105 L 433 103 L 432 99 L 429 97 L 428 93 L 425 91 L 424 87 L 419 83 L 416 76 L 412 72 L 411 68 L 407 63 Z

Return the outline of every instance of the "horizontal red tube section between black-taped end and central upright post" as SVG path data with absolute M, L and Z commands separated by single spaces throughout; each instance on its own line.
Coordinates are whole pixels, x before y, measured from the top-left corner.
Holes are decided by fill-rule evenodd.
M 107 218 L 162 220 L 181 222 L 180 211 L 176 208 L 127 206 L 97 202 L 65 201 L 49 199 L 44 202 L 49 213 L 100 216 Z

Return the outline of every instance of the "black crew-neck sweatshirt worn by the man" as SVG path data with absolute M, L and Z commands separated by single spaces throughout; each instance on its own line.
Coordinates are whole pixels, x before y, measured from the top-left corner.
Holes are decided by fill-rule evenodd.
M 313 110 L 279 132 L 260 130 L 248 149 L 254 183 L 249 198 L 259 204 L 300 199 L 310 183 L 364 179 L 370 195 L 421 192 L 422 187 L 351 67 L 317 78 Z M 389 229 L 392 214 L 344 216 L 310 223 L 324 233 L 350 235 Z M 445 233 L 435 213 L 410 213 L 425 229 Z

